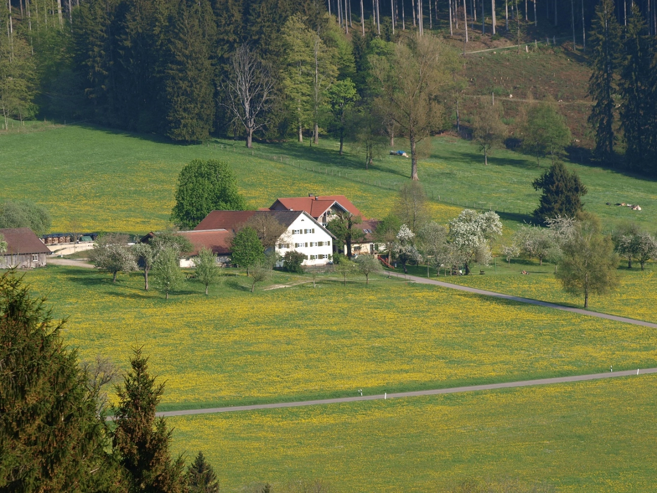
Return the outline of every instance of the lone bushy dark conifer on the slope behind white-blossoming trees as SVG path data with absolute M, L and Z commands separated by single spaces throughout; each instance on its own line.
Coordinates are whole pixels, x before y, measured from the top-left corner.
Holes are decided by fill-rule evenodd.
M 533 212 L 539 223 L 556 218 L 574 218 L 584 204 L 581 197 L 587 189 L 576 172 L 566 170 L 560 161 L 555 162 L 543 175 L 532 183 L 535 190 L 543 191 L 538 208 Z

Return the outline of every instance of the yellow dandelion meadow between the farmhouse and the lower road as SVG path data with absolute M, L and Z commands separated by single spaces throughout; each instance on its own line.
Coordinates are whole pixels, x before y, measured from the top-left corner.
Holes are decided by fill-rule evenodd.
M 251 294 L 242 275 L 208 297 L 187 281 L 168 301 L 143 291 L 139 273 L 116 285 L 81 268 L 26 278 L 55 316 L 70 316 L 66 342 L 81 358 L 125 367 L 131 346 L 143 346 L 167 381 L 162 409 L 657 366 L 647 327 L 380 276 Z

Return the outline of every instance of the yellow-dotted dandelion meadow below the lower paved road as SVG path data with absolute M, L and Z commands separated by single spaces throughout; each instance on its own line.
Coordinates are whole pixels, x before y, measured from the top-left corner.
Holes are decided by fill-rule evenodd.
M 657 489 L 657 375 L 170 417 L 225 491 L 321 479 L 335 492 L 436 492 L 468 478 L 559 492 Z

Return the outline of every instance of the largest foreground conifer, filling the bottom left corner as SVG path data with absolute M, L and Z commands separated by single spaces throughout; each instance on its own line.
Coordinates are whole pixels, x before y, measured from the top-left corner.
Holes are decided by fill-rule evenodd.
M 100 389 L 64 346 L 64 324 L 22 277 L 0 278 L 0 492 L 125 491 Z

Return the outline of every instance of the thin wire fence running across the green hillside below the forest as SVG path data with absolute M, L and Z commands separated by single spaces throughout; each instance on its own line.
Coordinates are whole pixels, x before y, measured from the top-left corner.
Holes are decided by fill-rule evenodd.
M 211 144 L 208 144 L 208 147 L 210 147 L 210 145 Z M 284 164 L 286 166 L 291 166 L 293 168 L 297 168 L 298 170 L 331 176 L 347 181 L 354 181 L 363 185 L 369 185 L 371 187 L 378 187 L 386 190 L 398 192 L 401 191 L 401 187 L 404 185 L 403 182 L 390 183 L 372 177 L 364 177 L 363 171 L 337 168 L 336 166 L 321 166 L 317 163 L 304 161 L 298 158 L 292 158 L 286 154 L 263 153 L 261 151 L 257 151 L 256 149 L 246 149 L 246 147 L 238 147 L 234 144 L 228 145 L 223 143 L 214 144 L 214 148 L 227 153 L 240 153 L 242 155 L 252 156 L 263 160 Z M 440 204 L 452 205 L 455 207 L 470 208 L 475 210 L 491 210 L 493 212 L 497 212 L 498 214 L 518 214 L 520 216 L 532 215 L 532 212 L 524 210 L 522 207 L 494 204 L 493 202 L 489 202 L 487 200 L 455 199 L 453 197 L 446 197 L 440 193 L 440 191 L 436 191 L 434 189 L 425 189 L 425 194 L 427 199 L 433 200 L 434 202 L 438 202 Z

